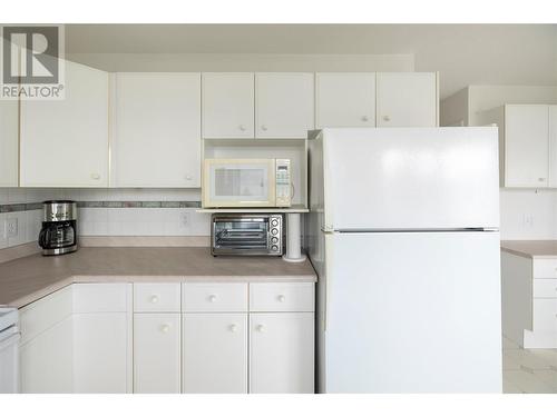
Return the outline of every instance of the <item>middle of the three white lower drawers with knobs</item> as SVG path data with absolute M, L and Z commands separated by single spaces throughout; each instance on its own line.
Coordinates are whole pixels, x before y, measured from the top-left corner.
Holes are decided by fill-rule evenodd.
M 182 309 L 196 311 L 247 311 L 246 282 L 184 282 Z

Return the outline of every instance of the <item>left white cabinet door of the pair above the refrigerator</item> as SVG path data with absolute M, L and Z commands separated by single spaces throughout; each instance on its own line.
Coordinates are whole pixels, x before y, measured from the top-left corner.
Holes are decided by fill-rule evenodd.
M 317 129 L 375 127 L 375 73 L 321 72 L 315 77 Z

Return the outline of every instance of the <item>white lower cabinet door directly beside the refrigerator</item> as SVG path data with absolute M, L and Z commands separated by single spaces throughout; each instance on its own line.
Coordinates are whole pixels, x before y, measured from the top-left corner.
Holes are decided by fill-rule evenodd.
M 314 391 L 313 312 L 250 315 L 250 391 Z

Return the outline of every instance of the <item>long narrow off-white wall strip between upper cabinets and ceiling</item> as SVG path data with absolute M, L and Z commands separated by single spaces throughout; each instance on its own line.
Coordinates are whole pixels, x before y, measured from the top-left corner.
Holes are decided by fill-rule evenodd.
M 301 40 L 302 42 L 303 40 Z M 405 54 L 68 53 L 105 71 L 413 71 Z

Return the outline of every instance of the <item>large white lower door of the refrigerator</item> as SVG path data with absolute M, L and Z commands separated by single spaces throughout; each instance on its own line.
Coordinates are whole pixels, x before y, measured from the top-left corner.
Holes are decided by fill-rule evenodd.
M 321 387 L 501 393 L 498 232 L 325 235 Z

